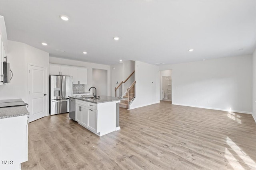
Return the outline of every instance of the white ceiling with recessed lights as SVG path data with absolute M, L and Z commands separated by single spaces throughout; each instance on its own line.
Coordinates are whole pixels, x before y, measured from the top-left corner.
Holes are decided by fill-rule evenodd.
M 61 14 L 70 20 L 60 20 Z M 184 63 L 252 54 L 256 48 L 255 0 L 1 0 L 0 15 L 9 40 L 91 63 Z

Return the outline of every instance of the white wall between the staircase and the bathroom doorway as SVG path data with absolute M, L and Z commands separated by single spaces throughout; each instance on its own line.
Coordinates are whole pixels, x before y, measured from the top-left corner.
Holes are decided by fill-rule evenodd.
M 136 98 L 130 109 L 159 103 L 159 67 L 135 61 Z

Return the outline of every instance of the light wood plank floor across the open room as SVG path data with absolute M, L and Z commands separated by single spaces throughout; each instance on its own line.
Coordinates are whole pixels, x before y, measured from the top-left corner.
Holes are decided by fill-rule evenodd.
M 22 170 L 256 169 L 250 114 L 175 106 L 120 108 L 119 131 L 98 137 L 68 113 L 28 125 Z

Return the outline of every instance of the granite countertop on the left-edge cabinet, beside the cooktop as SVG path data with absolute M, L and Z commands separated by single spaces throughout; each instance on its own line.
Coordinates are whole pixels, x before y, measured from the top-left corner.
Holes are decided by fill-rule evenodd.
M 29 115 L 26 106 L 1 107 L 0 119 Z

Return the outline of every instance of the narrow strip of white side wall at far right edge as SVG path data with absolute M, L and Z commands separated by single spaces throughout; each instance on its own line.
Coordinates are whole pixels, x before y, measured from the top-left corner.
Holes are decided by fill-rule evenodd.
M 252 55 L 252 116 L 256 122 L 256 49 Z

